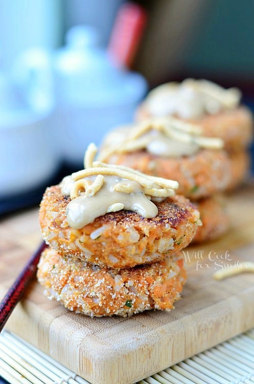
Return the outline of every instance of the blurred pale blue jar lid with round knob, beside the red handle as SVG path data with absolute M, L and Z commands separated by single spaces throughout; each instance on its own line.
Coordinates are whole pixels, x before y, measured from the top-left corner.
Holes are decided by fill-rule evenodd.
M 118 105 L 144 96 L 147 83 L 143 76 L 117 67 L 98 41 L 93 27 L 76 26 L 68 31 L 67 45 L 53 60 L 57 104 Z

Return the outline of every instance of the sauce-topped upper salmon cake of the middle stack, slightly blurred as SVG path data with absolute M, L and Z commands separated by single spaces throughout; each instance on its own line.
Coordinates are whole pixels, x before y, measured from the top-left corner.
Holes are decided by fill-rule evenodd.
M 152 119 L 105 137 L 99 159 L 147 175 L 177 180 L 178 193 L 197 200 L 225 190 L 233 174 L 219 138 L 200 135 L 200 127 L 179 119 Z

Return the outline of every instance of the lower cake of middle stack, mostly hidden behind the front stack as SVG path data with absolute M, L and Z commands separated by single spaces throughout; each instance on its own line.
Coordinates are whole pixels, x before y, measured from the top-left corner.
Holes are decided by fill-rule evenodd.
M 229 229 L 230 219 L 226 212 L 226 199 L 223 196 L 202 199 L 196 205 L 203 225 L 198 227 L 192 243 L 215 240 Z

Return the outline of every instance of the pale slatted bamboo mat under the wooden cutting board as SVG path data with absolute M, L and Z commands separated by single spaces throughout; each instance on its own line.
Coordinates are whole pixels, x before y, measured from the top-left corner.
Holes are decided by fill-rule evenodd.
M 7 331 L 0 335 L 0 373 L 11 384 L 90 384 L 89 381 Z M 254 329 L 136 384 L 181 383 L 253 384 Z

